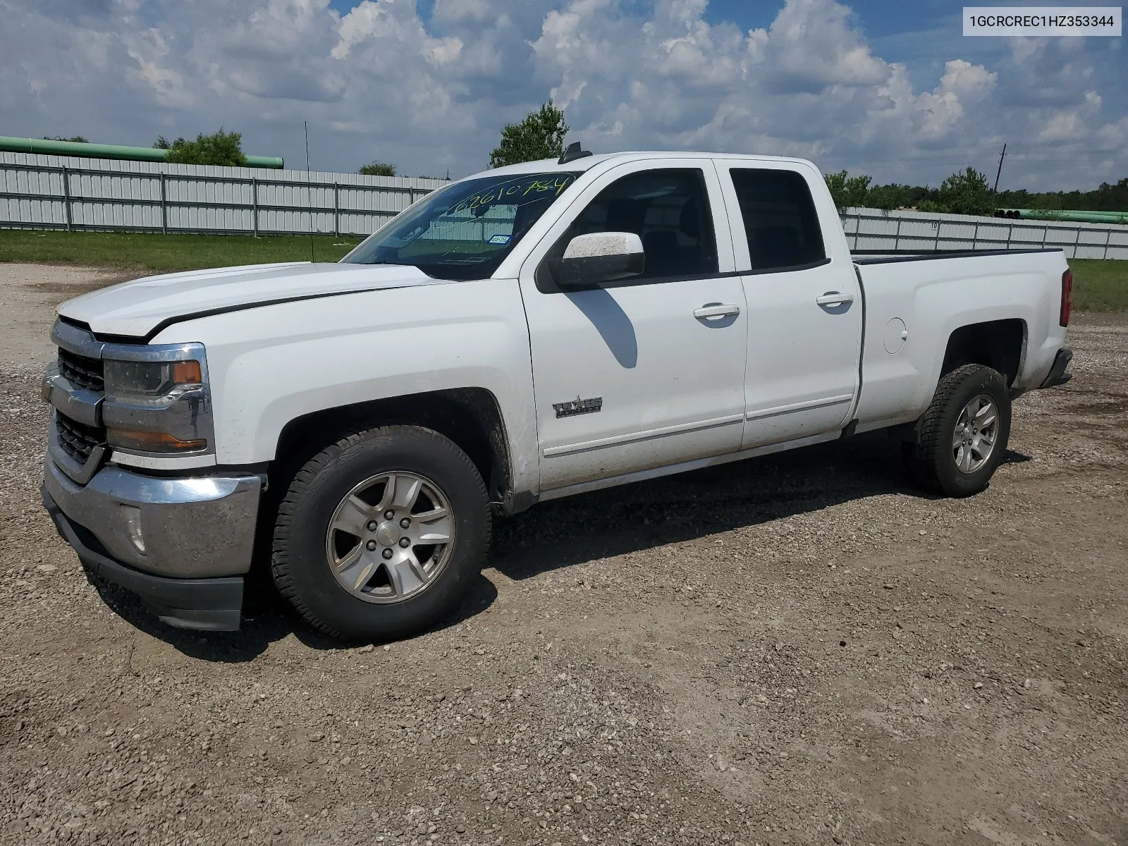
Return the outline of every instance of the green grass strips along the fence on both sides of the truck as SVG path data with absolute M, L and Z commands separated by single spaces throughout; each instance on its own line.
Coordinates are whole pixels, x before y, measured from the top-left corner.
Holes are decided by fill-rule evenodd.
M 335 262 L 359 237 L 314 236 L 319 262 Z M 0 262 L 100 265 L 121 270 L 187 271 L 235 264 L 305 262 L 309 236 L 147 235 L 0 229 Z M 1077 311 L 1128 311 L 1128 262 L 1074 258 L 1073 307 Z

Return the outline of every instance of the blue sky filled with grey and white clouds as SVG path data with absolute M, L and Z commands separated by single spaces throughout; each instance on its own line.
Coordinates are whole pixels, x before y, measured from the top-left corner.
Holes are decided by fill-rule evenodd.
M 995 0 L 999 2 L 999 0 Z M 1024 0 L 1026 5 L 1036 0 Z M 1063 0 L 1058 0 L 1059 3 Z M 941 0 L 0 0 L 0 134 L 220 125 L 315 169 L 483 169 L 552 96 L 594 151 L 797 155 L 875 182 L 1128 176 L 1122 38 L 966 38 Z

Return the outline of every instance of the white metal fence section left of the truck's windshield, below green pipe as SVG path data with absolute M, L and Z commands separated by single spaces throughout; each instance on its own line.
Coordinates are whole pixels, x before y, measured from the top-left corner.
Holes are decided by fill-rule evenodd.
M 369 235 L 446 184 L 0 152 L 0 228 Z

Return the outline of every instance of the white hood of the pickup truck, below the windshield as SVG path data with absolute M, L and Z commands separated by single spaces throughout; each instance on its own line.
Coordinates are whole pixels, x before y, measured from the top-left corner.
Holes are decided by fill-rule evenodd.
M 147 338 L 192 317 L 275 302 L 442 284 L 417 267 L 397 264 L 252 264 L 167 273 L 123 282 L 68 300 L 59 314 L 97 335 Z

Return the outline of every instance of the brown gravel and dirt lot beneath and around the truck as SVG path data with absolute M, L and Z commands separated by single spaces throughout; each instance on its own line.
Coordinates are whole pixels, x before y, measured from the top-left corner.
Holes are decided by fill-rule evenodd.
M 96 283 L 0 265 L 33 334 Z M 1070 343 L 979 496 L 865 437 L 547 503 L 374 649 L 90 584 L 38 502 L 42 350 L 6 347 L 0 839 L 1128 844 L 1128 319 Z

